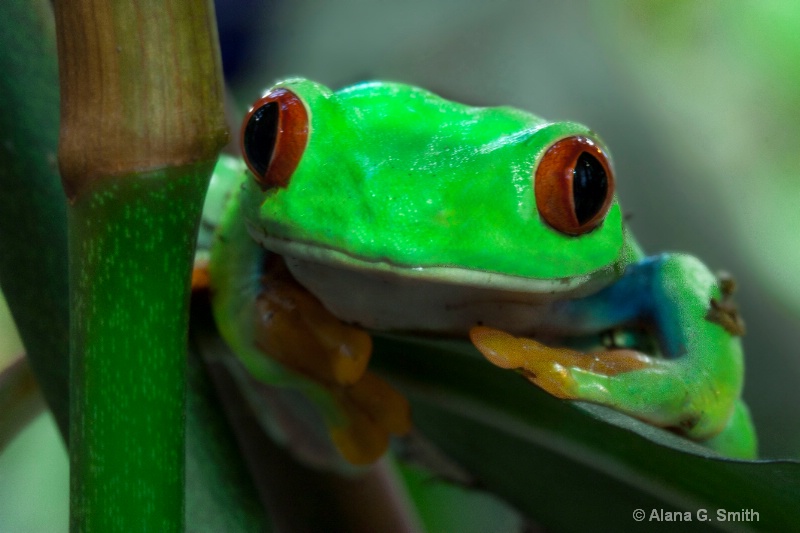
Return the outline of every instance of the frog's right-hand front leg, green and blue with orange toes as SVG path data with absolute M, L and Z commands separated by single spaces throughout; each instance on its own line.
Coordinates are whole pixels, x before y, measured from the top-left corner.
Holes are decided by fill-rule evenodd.
M 643 329 L 655 340 L 653 353 L 625 345 L 593 353 L 551 348 L 483 326 L 470 337 L 489 361 L 517 369 L 558 398 L 606 405 L 724 455 L 750 458 L 756 439 L 740 399 L 743 327 L 732 291 L 730 280 L 717 280 L 696 259 L 662 255 L 553 309 L 557 323 L 581 333 Z

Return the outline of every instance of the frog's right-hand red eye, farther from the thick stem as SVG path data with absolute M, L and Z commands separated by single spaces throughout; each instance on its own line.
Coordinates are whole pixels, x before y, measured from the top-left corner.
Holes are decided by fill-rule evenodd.
M 599 226 L 611 207 L 611 165 L 588 137 L 566 137 L 548 148 L 539 161 L 534 193 L 545 222 L 562 233 L 581 235 Z

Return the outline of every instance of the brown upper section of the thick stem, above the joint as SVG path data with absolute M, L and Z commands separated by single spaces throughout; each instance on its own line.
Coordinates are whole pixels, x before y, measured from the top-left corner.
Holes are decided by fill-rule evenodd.
M 59 167 L 107 176 L 215 158 L 228 132 L 208 0 L 57 0 Z

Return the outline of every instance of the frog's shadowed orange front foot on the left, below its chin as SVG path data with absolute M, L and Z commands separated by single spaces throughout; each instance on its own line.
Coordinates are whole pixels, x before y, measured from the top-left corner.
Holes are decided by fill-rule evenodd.
M 392 434 L 411 428 L 408 402 L 367 365 L 368 333 L 342 323 L 271 255 L 256 299 L 255 346 L 265 357 L 311 379 L 329 395 L 323 408 L 331 438 L 345 459 L 367 464 Z

